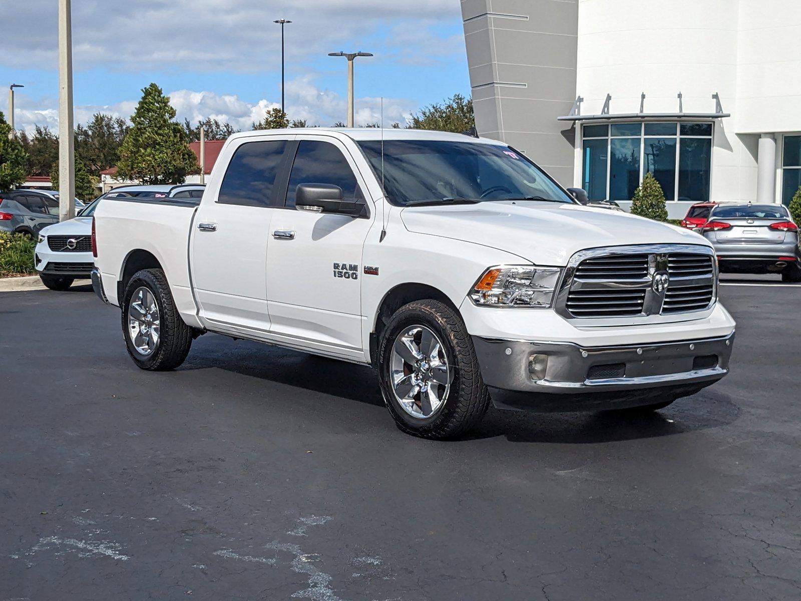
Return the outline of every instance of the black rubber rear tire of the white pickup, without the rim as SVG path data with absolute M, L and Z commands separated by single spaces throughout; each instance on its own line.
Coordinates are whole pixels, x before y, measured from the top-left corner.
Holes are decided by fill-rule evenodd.
M 139 288 L 147 288 L 159 309 L 159 341 L 155 349 L 145 355 L 136 349 L 128 328 L 128 306 L 131 296 Z M 123 337 L 131 359 L 141 369 L 167 371 L 183 363 L 192 345 L 192 329 L 183 322 L 175 309 L 170 286 L 161 269 L 143 269 L 136 272 L 125 287 L 123 294 Z

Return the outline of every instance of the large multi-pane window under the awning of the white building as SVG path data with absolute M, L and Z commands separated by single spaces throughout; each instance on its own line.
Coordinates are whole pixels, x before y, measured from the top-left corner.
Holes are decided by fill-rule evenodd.
M 582 187 L 592 200 L 631 200 L 642 176 L 650 172 L 666 200 L 707 201 L 712 131 L 712 123 L 676 121 L 586 125 Z

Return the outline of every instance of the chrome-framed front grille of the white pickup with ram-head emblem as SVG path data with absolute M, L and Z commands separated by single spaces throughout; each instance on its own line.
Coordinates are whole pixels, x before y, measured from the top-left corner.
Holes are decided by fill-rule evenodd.
M 556 309 L 568 318 L 646 317 L 706 310 L 717 272 L 711 249 L 680 244 L 578 252 Z

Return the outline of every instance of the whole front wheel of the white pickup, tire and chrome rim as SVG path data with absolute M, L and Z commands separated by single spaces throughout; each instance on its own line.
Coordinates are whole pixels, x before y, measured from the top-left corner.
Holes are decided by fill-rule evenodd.
M 489 393 L 461 317 L 438 300 L 404 305 L 380 339 L 381 393 L 407 434 L 445 440 L 483 417 Z

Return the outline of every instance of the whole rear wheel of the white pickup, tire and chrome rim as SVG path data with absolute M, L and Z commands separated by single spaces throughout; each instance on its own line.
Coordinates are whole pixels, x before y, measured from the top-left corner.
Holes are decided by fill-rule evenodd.
M 167 371 L 187 358 L 191 328 L 183 322 L 161 269 L 136 272 L 123 295 L 123 337 L 141 369 Z

